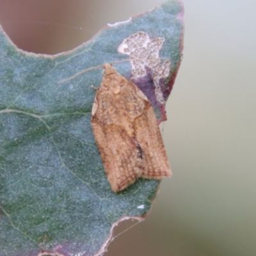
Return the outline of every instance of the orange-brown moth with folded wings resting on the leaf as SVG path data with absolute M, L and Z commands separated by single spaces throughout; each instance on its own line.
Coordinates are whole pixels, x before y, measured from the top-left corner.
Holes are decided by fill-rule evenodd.
M 92 107 L 92 129 L 114 192 L 136 178 L 171 176 L 154 110 L 147 97 L 108 63 Z

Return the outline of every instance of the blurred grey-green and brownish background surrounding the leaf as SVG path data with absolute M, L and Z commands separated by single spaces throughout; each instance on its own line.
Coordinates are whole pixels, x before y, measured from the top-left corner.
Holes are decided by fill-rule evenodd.
M 55 54 L 161 2 L 1 0 L 0 23 L 21 49 Z M 173 177 L 107 256 L 256 255 L 256 1 L 183 3 L 184 58 L 163 126 Z

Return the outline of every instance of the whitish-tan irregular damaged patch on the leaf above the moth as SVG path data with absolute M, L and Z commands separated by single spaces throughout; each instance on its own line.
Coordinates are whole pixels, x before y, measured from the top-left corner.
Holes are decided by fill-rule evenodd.
M 159 85 L 161 78 L 166 78 L 170 74 L 170 60 L 161 63 L 159 51 L 164 44 L 164 38 L 150 38 L 147 33 L 139 31 L 125 38 L 118 46 L 118 52 L 130 56 L 132 65 L 132 78 L 138 79 L 147 75 L 146 67 L 152 70 L 156 99 L 164 104 L 163 93 Z

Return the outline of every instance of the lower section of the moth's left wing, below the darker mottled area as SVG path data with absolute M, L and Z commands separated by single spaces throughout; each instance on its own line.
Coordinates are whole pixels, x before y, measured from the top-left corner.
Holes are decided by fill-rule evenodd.
M 136 141 L 118 126 L 98 122 L 97 115 L 92 118 L 92 127 L 112 190 L 117 192 L 134 183 L 145 168 Z

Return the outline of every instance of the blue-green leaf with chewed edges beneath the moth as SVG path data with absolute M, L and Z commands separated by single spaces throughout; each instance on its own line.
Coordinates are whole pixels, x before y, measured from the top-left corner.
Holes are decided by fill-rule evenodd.
M 134 78 L 129 56 L 117 49 L 138 31 L 164 38 L 161 63 L 169 60 L 171 68 L 157 83 L 166 100 L 180 64 L 182 15 L 179 1 L 167 1 L 56 56 L 21 51 L 1 32 L 1 256 L 95 255 L 104 252 L 118 220 L 144 218 L 159 181 L 139 179 L 111 191 L 92 134 L 91 85 L 99 86 L 105 62 L 116 63 L 164 120 L 154 70 L 145 67 L 147 74 Z

